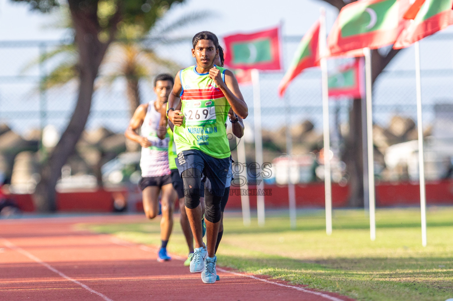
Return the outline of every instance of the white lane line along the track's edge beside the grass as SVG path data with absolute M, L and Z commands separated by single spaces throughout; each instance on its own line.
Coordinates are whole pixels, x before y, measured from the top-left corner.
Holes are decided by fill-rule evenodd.
M 118 239 L 118 238 L 116 238 L 114 236 L 110 236 L 110 235 L 107 235 L 107 237 L 109 237 L 109 241 L 110 242 L 112 242 L 114 244 L 117 244 L 117 245 L 122 245 L 122 246 L 125 246 L 125 247 L 133 247 L 133 246 L 135 246 L 135 247 L 139 247 L 139 249 L 141 249 L 143 251 L 146 251 L 146 252 L 155 252 L 156 251 L 155 248 L 153 249 L 153 248 L 151 248 L 149 246 L 146 246 L 146 245 L 132 244 L 130 242 Z M 171 256 L 173 256 L 174 259 L 179 259 L 179 260 L 182 260 L 182 261 L 186 260 L 185 258 L 183 258 L 181 256 L 178 256 L 178 255 L 171 254 Z M 269 281 L 267 279 L 261 279 L 261 278 L 258 278 L 258 277 L 252 276 L 252 275 L 246 275 L 246 274 L 241 274 L 241 273 L 227 271 L 227 270 L 224 270 L 223 268 L 217 268 L 217 270 L 221 271 L 222 273 L 230 273 L 230 274 L 233 274 L 233 275 L 236 275 L 236 276 L 249 277 L 249 278 L 252 278 L 252 279 L 255 279 L 255 280 L 259 280 L 259 281 L 262 281 L 262 282 L 275 284 L 275 285 L 278 285 L 280 287 L 289 287 L 289 288 L 298 290 L 300 292 L 306 292 L 306 293 L 309 293 L 309 294 L 321 296 L 321 297 L 326 298 L 326 299 L 331 300 L 331 301 L 344 301 L 343 299 L 339 299 L 339 298 L 334 297 L 334 296 L 323 294 L 321 292 L 313 292 L 313 291 L 310 291 L 310 290 L 305 289 L 303 287 L 294 287 L 294 286 L 290 286 L 290 285 L 285 285 L 285 284 L 282 284 L 282 283 Z

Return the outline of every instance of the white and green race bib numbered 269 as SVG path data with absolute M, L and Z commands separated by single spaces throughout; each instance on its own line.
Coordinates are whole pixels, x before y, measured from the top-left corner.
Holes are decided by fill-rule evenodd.
M 216 107 L 212 100 L 185 103 L 184 118 L 188 126 L 203 126 L 216 123 Z

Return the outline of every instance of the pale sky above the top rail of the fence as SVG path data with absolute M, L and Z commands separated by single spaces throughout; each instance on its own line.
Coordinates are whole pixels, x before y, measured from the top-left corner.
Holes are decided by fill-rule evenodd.
M 228 5 L 226 5 L 226 3 Z M 211 11 L 213 16 L 205 22 L 194 24 L 179 34 L 192 36 L 195 32 L 209 30 L 219 36 L 269 28 L 283 22 L 284 35 L 302 35 L 316 21 L 321 6 L 327 10 L 328 26 L 333 24 L 337 10 L 321 0 L 187 0 L 173 5 L 166 15 L 167 21 L 199 9 Z M 207 5 L 208 4 L 208 5 Z M 55 16 L 30 12 L 25 3 L 0 0 L 1 40 L 58 40 L 67 32 L 50 28 Z M 47 25 L 47 26 L 46 26 Z

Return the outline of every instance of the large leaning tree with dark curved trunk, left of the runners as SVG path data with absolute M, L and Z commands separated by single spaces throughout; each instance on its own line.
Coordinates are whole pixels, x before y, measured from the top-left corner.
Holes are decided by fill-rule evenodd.
M 28 3 L 31 9 L 43 13 L 61 6 L 58 0 L 13 1 Z M 52 212 L 57 209 L 55 185 L 87 124 L 99 67 L 107 49 L 118 38 L 119 29 L 133 24 L 142 28 L 143 32 L 148 32 L 173 4 L 183 1 L 67 0 L 78 54 L 77 102 L 60 141 L 47 162 L 41 165 L 41 181 L 33 197 L 39 211 Z

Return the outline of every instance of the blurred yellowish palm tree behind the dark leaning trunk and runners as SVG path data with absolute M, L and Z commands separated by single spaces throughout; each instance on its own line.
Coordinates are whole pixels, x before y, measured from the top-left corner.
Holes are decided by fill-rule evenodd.
M 176 74 L 181 69 L 177 63 L 160 57 L 155 48 L 184 38 L 167 38 L 174 31 L 206 18 L 206 11 L 188 13 L 165 24 L 160 19 L 148 33 L 142 33 L 140 28 L 133 25 L 123 26 L 118 33 L 119 39 L 112 42 L 100 67 L 96 81 L 96 89 L 111 86 L 120 78 L 125 79 L 125 93 L 129 103 L 130 117 L 140 105 L 140 81 L 151 82 L 155 75 L 163 72 Z M 67 24 L 70 27 L 70 24 Z M 54 61 L 59 63 L 43 78 L 44 89 L 52 89 L 77 80 L 77 48 L 71 44 L 59 46 L 52 52 L 43 55 L 39 62 Z M 33 64 L 29 66 L 35 65 Z

